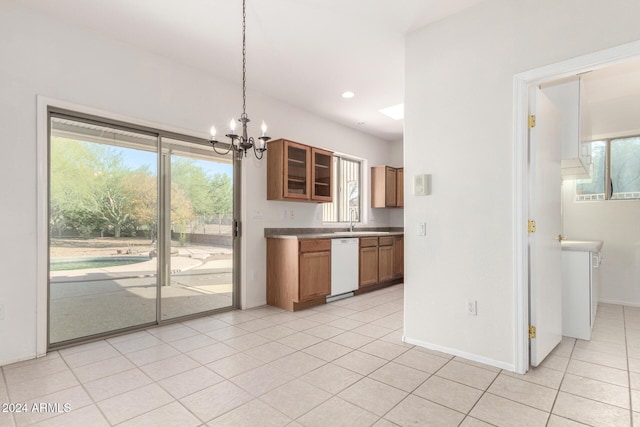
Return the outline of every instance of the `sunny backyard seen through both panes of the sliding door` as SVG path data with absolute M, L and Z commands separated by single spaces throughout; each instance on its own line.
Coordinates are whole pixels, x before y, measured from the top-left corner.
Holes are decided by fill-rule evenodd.
M 51 343 L 232 305 L 232 166 L 173 140 L 159 162 L 157 146 L 52 119 Z

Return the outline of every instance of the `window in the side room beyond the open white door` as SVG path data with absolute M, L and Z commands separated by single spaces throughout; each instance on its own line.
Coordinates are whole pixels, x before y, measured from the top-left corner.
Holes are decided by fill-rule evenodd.
M 591 179 L 576 181 L 576 200 L 640 199 L 640 136 L 591 142 Z

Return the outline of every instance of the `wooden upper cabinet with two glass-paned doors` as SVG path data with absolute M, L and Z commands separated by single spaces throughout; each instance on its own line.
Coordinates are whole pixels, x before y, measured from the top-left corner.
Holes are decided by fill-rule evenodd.
M 333 153 L 286 139 L 267 143 L 267 200 L 330 202 Z

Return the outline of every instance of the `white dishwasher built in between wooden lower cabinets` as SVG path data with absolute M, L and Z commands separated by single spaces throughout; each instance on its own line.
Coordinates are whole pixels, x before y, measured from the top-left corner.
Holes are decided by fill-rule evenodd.
M 358 289 L 358 238 L 331 239 L 331 296 L 350 296 Z M 346 295 L 345 295 L 346 294 Z

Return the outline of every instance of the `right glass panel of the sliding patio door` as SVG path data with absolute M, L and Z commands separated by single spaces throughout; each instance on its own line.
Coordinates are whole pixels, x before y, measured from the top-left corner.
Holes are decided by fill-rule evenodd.
M 170 177 L 161 320 L 233 306 L 233 164 L 163 138 Z

